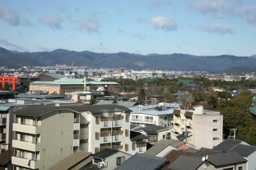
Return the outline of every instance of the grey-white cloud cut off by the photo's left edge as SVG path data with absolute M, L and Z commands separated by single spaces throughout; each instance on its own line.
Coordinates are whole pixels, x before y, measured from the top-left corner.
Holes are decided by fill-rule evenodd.
M 0 18 L 11 26 L 20 25 L 20 16 L 13 10 L 0 4 Z

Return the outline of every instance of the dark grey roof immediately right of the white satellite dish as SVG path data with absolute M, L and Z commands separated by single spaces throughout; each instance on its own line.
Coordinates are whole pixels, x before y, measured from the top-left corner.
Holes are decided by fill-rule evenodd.
M 209 155 L 208 161 L 215 167 L 235 165 L 238 163 L 246 163 L 247 160 L 237 152 L 225 152 L 215 155 Z

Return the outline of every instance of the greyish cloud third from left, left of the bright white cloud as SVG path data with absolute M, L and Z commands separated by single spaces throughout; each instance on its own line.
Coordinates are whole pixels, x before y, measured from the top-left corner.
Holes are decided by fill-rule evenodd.
M 97 18 L 75 20 L 73 21 L 73 23 L 78 26 L 78 30 L 85 30 L 87 32 L 98 32 L 99 29 L 99 21 L 97 20 Z

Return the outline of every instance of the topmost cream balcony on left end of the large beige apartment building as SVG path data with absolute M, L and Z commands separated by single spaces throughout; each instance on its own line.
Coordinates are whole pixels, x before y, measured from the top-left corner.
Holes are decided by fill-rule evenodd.
M 13 123 L 12 131 L 19 131 L 27 134 L 40 134 L 41 126 L 22 125 L 19 123 Z

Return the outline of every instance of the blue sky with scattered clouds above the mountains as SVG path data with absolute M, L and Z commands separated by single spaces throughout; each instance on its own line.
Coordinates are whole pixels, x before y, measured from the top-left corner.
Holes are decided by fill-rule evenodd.
M 256 54 L 255 0 L 0 0 L 0 47 L 18 51 Z

